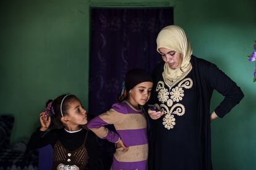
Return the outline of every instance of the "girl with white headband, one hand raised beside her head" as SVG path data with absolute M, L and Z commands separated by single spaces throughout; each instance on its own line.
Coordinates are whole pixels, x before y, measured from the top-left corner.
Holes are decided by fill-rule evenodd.
M 45 134 L 51 123 L 49 113 L 64 128 Z M 87 124 L 87 113 L 75 95 L 64 94 L 49 102 L 40 114 L 40 123 L 41 127 L 28 142 L 28 150 L 51 144 L 53 169 L 98 169 L 96 138 L 92 132 L 80 127 Z

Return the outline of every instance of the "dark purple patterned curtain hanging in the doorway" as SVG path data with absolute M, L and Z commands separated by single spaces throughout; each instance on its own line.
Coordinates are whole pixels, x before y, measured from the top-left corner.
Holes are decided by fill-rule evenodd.
M 90 115 L 111 108 L 126 72 L 143 68 L 151 73 L 161 57 L 156 36 L 173 25 L 173 8 L 91 10 Z

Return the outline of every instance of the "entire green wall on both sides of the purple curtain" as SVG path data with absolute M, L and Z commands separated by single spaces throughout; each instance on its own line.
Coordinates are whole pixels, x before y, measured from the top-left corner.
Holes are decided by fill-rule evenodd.
M 88 103 L 90 7 L 173 6 L 194 55 L 216 63 L 245 97 L 212 127 L 213 168 L 256 169 L 256 83 L 247 61 L 256 39 L 256 1 L 4 1 L 0 28 L 0 114 L 15 116 L 11 143 L 28 140 L 46 100 L 77 94 Z M 213 95 L 212 110 L 223 97 Z M 181 158 L 182 159 L 182 158 Z

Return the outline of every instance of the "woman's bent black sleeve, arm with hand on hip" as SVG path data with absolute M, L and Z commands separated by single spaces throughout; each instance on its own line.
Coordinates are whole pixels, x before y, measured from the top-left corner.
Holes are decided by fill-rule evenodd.
M 216 65 L 211 64 L 207 72 L 208 75 L 206 76 L 210 86 L 224 96 L 223 101 L 215 109 L 215 113 L 220 118 L 223 118 L 226 113 L 242 100 L 244 94 L 240 87 Z

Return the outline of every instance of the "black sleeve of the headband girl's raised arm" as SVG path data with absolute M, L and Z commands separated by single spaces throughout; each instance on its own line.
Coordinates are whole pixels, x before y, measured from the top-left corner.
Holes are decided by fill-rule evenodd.
M 51 130 L 49 132 L 40 131 L 40 127 L 33 132 L 32 136 L 27 145 L 27 152 L 30 150 L 35 150 L 37 148 L 45 147 L 46 145 L 51 144 L 52 146 L 56 142 L 56 131 Z

